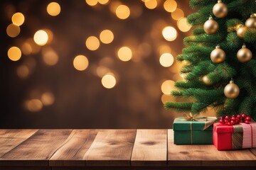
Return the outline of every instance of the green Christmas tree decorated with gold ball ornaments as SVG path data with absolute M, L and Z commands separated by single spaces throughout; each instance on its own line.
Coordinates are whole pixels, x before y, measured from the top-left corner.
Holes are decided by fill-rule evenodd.
M 191 0 L 198 9 L 187 17 L 193 35 L 176 59 L 184 81 L 171 94 L 187 102 L 165 107 L 199 115 L 213 108 L 217 117 L 246 113 L 256 120 L 256 1 Z

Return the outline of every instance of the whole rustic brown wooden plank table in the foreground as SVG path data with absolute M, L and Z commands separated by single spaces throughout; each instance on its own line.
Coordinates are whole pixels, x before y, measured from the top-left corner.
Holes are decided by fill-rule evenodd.
M 0 169 L 256 169 L 256 149 L 174 145 L 172 130 L 0 130 Z

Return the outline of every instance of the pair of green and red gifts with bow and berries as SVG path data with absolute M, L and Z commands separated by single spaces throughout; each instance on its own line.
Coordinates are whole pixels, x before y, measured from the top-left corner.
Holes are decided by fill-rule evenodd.
M 176 118 L 174 144 L 214 145 L 218 150 L 256 147 L 256 123 L 245 114 L 195 118 L 191 113 Z

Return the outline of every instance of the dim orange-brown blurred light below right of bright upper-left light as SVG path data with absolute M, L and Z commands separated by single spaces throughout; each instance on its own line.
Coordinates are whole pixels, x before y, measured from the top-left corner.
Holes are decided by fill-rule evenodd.
M 58 62 L 58 55 L 51 47 L 44 47 L 42 50 L 43 62 L 53 66 Z

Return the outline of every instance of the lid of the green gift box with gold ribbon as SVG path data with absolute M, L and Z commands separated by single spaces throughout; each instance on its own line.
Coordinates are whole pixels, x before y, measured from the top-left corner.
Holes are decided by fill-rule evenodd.
M 201 117 L 202 118 L 202 117 Z M 217 118 L 207 117 L 199 118 L 198 121 L 184 120 L 183 117 L 178 117 L 174 120 L 174 130 L 213 130 L 213 123 Z

